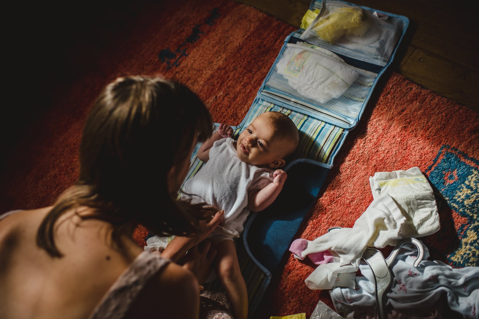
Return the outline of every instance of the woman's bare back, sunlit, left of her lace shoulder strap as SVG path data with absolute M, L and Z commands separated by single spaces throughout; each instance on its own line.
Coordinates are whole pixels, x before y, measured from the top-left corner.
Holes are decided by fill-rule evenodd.
M 0 221 L 1 318 L 89 318 L 143 251 L 128 238 L 123 252 L 112 248 L 107 223 L 68 212 L 56 223 L 63 257 L 52 257 L 36 245 L 49 210 L 20 211 Z

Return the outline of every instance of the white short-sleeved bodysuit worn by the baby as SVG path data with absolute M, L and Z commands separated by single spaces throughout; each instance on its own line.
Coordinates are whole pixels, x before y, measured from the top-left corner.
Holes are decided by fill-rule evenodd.
M 273 170 L 260 168 L 238 158 L 232 138 L 216 141 L 209 151 L 209 160 L 183 185 L 181 196 L 192 196 L 193 202 L 205 201 L 225 210 L 221 226 L 213 234 L 239 237 L 250 213 L 248 193 L 273 182 Z M 198 197 L 199 196 L 199 197 Z

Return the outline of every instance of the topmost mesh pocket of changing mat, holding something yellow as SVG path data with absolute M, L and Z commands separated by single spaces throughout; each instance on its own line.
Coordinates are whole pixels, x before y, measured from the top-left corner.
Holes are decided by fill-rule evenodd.
M 364 62 L 388 64 L 405 21 L 341 1 L 323 2 L 321 16 L 303 33 L 303 40 Z

